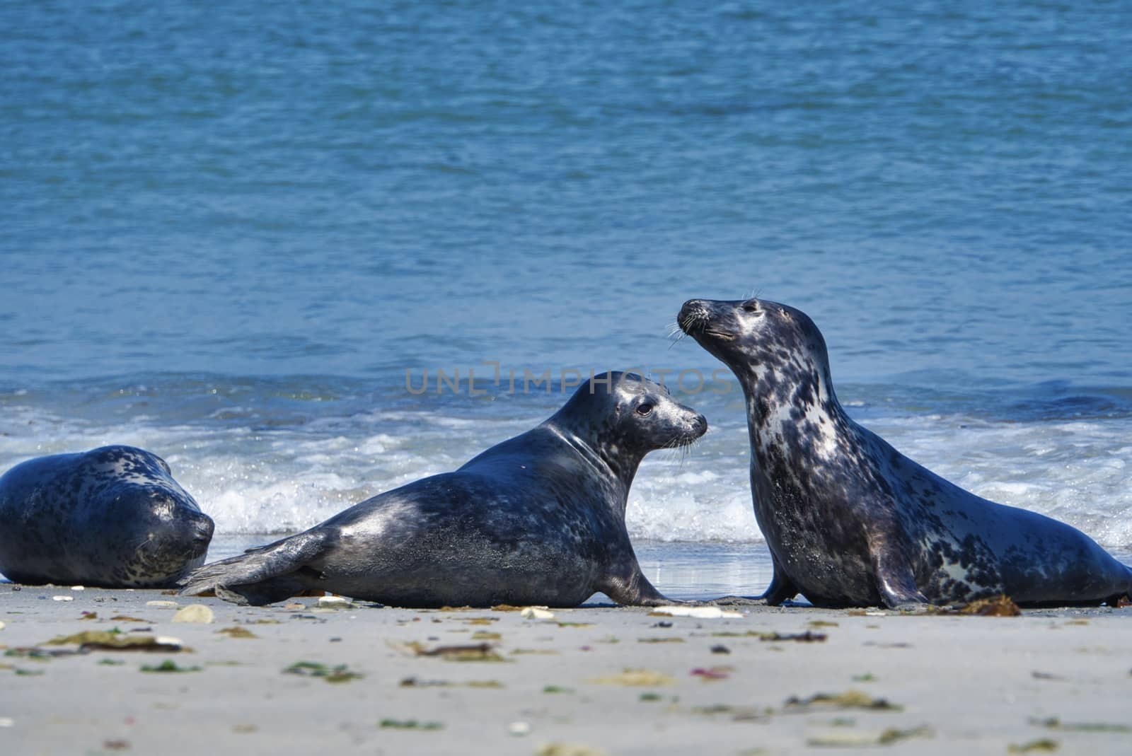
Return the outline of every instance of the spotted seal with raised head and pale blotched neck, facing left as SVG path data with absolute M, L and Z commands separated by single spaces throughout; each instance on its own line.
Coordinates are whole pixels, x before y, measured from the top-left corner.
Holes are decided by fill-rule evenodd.
M 774 562 L 762 596 L 820 607 L 1088 605 L 1132 569 L 1080 531 L 988 501 L 903 456 L 838 403 L 825 341 L 800 310 L 691 300 L 680 328 L 739 379 L 755 518 Z

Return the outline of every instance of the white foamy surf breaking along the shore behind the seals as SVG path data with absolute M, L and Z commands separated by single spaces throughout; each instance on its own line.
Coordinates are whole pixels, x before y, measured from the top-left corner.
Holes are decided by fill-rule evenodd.
M 218 533 L 282 533 L 413 480 L 454 470 L 537 419 L 371 412 L 281 428 L 128 423 L 14 403 L 0 470 L 32 456 L 131 444 L 165 457 Z M 732 413 L 734 414 L 734 413 Z M 634 539 L 762 540 L 752 512 L 741 416 L 715 423 L 689 454 L 648 457 L 629 495 Z M 1012 422 L 946 414 L 867 420 L 903 454 L 988 499 L 1063 519 L 1132 548 L 1132 420 Z

